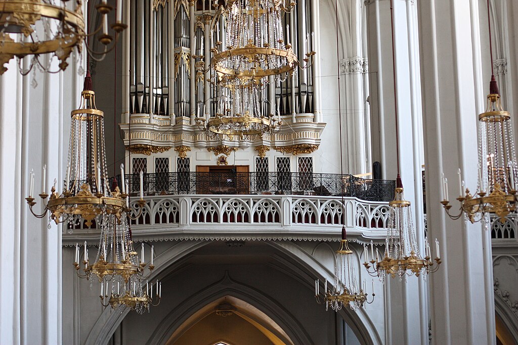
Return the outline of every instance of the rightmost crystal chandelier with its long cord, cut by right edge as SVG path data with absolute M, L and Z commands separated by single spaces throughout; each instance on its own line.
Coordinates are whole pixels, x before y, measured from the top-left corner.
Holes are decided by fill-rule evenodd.
M 489 1 L 487 2 L 488 18 Z M 442 174 L 442 201 L 446 213 L 452 219 L 465 215 L 472 223 L 484 220 L 490 223 L 490 214 L 500 217 L 505 223 L 510 212 L 518 212 L 516 178 L 518 166 L 514 146 L 511 115 L 503 110 L 498 84 L 493 72 L 493 49 L 491 41 L 491 20 L 488 20 L 491 54 L 490 93 L 487 95 L 485 112 L 478 122 L 478 184 L 474 193 L 465 189 L 461 169 L 458 170 L 457 200 L 460 202 L 458 214 L 450 213 L 452 205 L 448 196 L 448 179 Z

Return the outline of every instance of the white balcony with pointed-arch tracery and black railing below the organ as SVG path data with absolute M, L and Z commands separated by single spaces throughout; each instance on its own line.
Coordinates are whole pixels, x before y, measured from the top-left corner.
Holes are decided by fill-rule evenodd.
M 139 176 L 127 175 L 130 192 Z M 120 176 L 119 176 L 120 178 Z M 344 190 L 341 193 L 342 188 Z M 345 226 L 352 238 L 386 234 L 394 181 L 339 174 L 166 173 L 146 174 L 146 205 L 137 214 L 130 201 L 136 241 L 149 239 L 336 240 Z M 343 194 L 343 206 L 342 206 Z M 76 218 L 65 244 L 95 241 L 98 222 Z

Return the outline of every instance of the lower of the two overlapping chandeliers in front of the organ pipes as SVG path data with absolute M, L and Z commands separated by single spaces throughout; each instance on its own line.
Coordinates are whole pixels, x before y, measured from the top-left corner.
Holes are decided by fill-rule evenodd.
M 282 121 L 272 115 L 265 116 L 265 85 L 261 79 L 235 78 L 218 84 L 217 113 L 206 119 L 196 118 L 196 124 L 209 138 L 227 136 L 229 140 L 260 139 L 263 133 L 276 133 Z

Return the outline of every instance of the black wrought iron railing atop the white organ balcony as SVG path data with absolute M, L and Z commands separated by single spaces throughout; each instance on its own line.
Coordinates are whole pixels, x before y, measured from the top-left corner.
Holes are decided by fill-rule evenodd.
M 120 176 L 117 176 L 120 184 Z M 129 192 L 140 190 L 138 174 L 126 175 Z M 170 172 L 144 174 L 145 195 L 168 194 L 306 194 L 394 199 L 395 181 L 352 175 L 286 172 Z

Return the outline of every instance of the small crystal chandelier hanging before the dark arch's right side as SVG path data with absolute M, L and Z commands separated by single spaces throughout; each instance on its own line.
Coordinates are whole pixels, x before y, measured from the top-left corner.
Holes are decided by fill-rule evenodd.
M 338 311 L 346 305 L 349 305 L 354 310 L 358 307 L 363 307 L 365 303 L 372 303 L 374 296 L 376 296 L 374 293 L 374 282 L 372 282 L 372 299 L 370 302 L 367 300 L 365 280 L 363 288 L 358 286 L 354 272 L 353 252 L 349 249 L 349 242 L 346 237 L 346 229 L 343 227 L 340 248 L 335 252 L 335 277 L 331 289 L 328 290 L 326 279 L 324 292 L 320 293 L 320 282 L 319 280 L 315 281 L 316 302 L 319 304 L 325 303 L 326 310 L 330 307 Z

